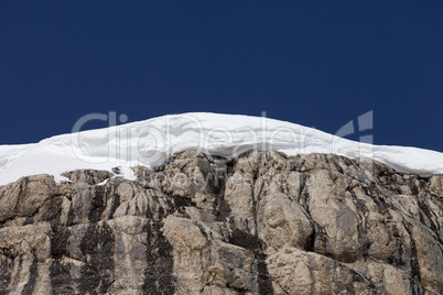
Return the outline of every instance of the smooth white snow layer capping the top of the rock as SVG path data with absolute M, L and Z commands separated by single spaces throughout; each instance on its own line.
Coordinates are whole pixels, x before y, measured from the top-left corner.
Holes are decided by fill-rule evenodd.
M 154 166 L 184 150 L 235 157 L 250 150 L 335 153 L 369 157 L 399 172 L 422 176 L 443 173 L 443 153 L 403 146 L 371 145 L 272 119 L 217 113 L 184 113 L 118 127 L 57 135 L 35 144 L 0 145 L 0 185 L 21 176 L 78 168 L 120 167 L 133 178 L 131 166 Z

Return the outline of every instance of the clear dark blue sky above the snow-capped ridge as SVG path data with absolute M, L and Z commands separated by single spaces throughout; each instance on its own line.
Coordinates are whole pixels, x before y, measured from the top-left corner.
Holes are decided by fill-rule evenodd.
M 213 111 L 443 152 L 443 1 L 1 1 L 0 144 Z M 93 127 L 105 127 L 101 122 Z

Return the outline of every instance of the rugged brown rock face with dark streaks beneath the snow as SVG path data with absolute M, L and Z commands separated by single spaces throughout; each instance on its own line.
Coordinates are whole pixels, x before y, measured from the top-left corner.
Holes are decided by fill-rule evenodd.
M 186 151 L 0 187 L 0 294 L 443 294 L 443 178 Z

